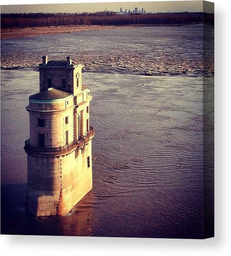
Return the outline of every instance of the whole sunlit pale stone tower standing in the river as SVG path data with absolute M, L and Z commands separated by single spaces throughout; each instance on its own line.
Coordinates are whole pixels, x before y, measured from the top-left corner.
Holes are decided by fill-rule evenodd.
M 43 56 L 40 92 L 29 97 L 27 207 L 35 216 L 64 215 L 92 189 L 90 90 L 82 64 Z

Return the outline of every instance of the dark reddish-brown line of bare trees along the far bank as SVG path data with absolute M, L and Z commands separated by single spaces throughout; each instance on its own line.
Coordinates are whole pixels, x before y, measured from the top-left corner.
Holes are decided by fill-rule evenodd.
M 116 15 L 114 12 L 96 13 L 7 13 L 1 14 L 1 28 L 25 28 L 75 25 L 182 25 L 201 24 L 214 26 L 210 13 L 156 13 Z

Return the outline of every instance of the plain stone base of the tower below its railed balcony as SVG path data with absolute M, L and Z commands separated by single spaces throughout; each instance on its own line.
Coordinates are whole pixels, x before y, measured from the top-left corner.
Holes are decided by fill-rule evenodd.
M 92 189 L 91 140 L 61 155 L 28 153 L 28 211 L 65 215 Z

